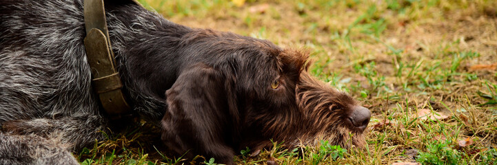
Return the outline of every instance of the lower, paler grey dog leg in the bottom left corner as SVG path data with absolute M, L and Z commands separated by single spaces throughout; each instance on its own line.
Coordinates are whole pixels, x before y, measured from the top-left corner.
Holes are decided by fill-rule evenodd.
M 57 139 L 0 133 L 0 164 L 79 164 Z

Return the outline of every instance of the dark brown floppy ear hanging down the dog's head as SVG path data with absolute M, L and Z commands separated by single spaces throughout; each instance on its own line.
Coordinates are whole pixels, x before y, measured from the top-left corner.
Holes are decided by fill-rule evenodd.
M 225 76 L 203 64 L 187 68 L 165 92 L 168 107 L 161 121 L 162 140 L 179 154 L 187 152 L 189 158 L 200 154 L 232 164 L 233 123 Z

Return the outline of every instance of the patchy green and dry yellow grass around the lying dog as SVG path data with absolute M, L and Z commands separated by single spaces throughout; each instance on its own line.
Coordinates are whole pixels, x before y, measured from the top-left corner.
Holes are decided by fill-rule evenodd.
M 497 1 L 141 0 L 166 19 L 312 52 L 312 74 L 369 108 L 367 147 L 277 142 L 237 164 L 496 164 Z M 268 7 L 250 12 L 254 6 Z M 423 109 L 449 116 L 422 120 Z M 385 121 L 389 122 L 385 122 Z M 138 123 L 79 154 L 82 164 L 181 164 Z M 469 145 L 460 145 L 466 142 Z M 211 157 L 194 162 L 215 164 Z

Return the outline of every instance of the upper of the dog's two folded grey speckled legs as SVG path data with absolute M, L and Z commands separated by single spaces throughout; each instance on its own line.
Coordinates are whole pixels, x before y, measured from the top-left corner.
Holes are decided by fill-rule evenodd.
M 3 123 L 2 131 L 16 135 L 59 136 L 62 143 L 70 144 L 72 150 L 78 151 L 91 146 L 95 140 L 102 140 L 101 131 L 105 131 L 105 126 L 106 122 L 101 116 L 85 115 L 78 118 L 12 120 Z

